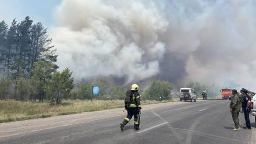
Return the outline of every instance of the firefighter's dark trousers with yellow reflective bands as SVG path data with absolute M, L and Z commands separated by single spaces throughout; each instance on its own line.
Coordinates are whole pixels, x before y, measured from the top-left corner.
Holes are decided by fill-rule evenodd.
M 134 128 L 138 128 L 139 127 L 140 116 L 139 116 L 139 112 L 138 112 L 137 107 L 127 108 L 127 116 L 124 118 L 123 124 L 126 125 L 127 123 L 129 123 L 133 116 L 134 116 Z

